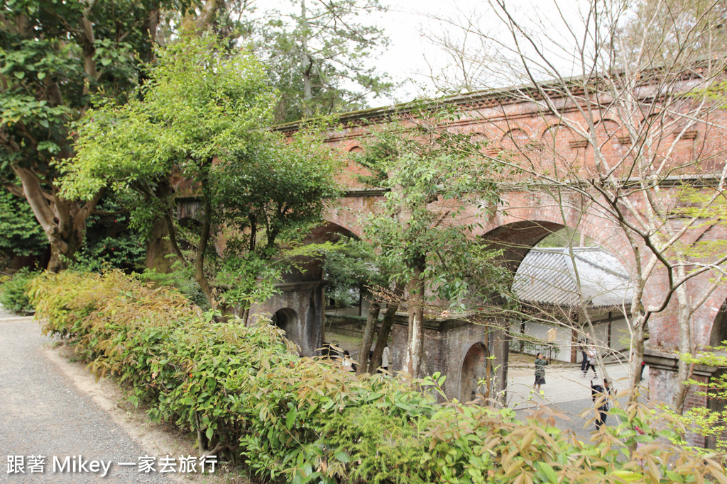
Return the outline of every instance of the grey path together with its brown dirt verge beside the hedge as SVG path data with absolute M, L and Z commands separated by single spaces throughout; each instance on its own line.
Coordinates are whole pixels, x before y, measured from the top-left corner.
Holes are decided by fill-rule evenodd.
M 68 356 L 31 318 L 0 313 L 0 481 L 95 483 L 105 474 L 104 483 L 230 482 L 223 472 L 180 472 L 180 457 L 196 456 L 193 440 L 128 408 L 114 382 L 95 382 Z M 145 457 L 156 472 L 140 472 Z M 20 458 L 24 472 L 11 472 Z

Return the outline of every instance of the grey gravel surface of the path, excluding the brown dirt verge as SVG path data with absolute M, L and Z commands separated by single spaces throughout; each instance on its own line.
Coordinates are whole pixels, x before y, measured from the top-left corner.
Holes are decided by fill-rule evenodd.
M 168 474 L 118 465 L 137 463 L 145 451 L 44 356 L 42 347 L 50 341 L 31 318 L 0 311 L 0 482 L 174 482 Z M 108 475 L 53 472 L 54 458 L 63 463 L 79 455 L 82 461 L 111 461 Z M 9 456 L 24 457 L 24 474 L 9 472 Z M 45 457 L 44 472 L 30 472 L 29 456 Z

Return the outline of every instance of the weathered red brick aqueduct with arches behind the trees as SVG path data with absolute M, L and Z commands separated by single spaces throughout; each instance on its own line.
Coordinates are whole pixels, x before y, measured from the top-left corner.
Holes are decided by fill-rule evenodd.
M 465 112 L 457 121 L 448 125 L 450 130 L 470 132 L 482 136 L 490 141 L 488 149 L 492 153 L 497 150 L 522 153 L 531 150 L 533 154 L 527 163 L 535 170 L 562 170 L 569 169 L 587 176 L 594 167 L 593 150 L 588 149 L 585 140 L 563 126 L 563 123 L 553 116 L 542 112 L 534 102 L 523 102 L 508 91 L 483 92 L 469 94 L 462 97 L 453 97 L 449 102 L 459 104 Z M 563 112 L 567 115 L 578 116 L 575 107 L 570 109 L 567 105 Z M 382 108 L 353 112 L 341 119 L 340 128 L 329 134 L 327 142 L 344 152 L 361 150 L 361 139 L 366 136 L 371 126 L 387 123 L 396 118 L 401 110 Z M 629 141 L 625 136 L 622 123 L 608 113 L 601 113 L 598 123 L 600 138 L 603 140 L 601 152 L 606 159 L 618 159 L 628 149 Z M 715 110 L 712 119 L 708 122 L 694 123 L 688 131 L 681 131 L 679 135 L 674 131 L 673 136 L 679 136 L 678 142 L 671 143 L 671 157 L 675 160 L 705 159 L 696 167 L 698 173 L 695 177 L 709 183 L 710 179 L 718 178 L 724 168 L 724 157 L 720 157 L 721 145 L 727 144 L 727 136 L 715 128 L 725 120 L 722 111 Z M 673 119 L 672 119 L 673 120 Z M 661 126 L 667 126 L 662 120 Z M 282 129 L 294 130 L 297 126 L 284 126 Z M 622 130 L 622 131 L 619 131 Z M 672 128 L 669 128 L 672 129 Z M 671 133 L 671 131 L 670 131 Z M 664 139 L 670 134 L 664 134 Z M 674 137 L 672 136 L 672 140 Z M 541 160 L 537 160 L 537 147 L 547 145 L 551 148 L 550 155 L 547 149 Z M 705 156 L 710 152 L 709 156 Z M 491 154 L 492 154 L 491 153 Z M 554 159 L 555 158 L 555 159 Z M 693 167 L 694 168 L 694 167 Z M 345 183 L 349 191 L 340 203 L 332 208 L 326 216 L 326 226 L 319 228 L 311 239 L 326 239 L 336 237 L 336 234 L 353 234 L 361 236 L 360 217 L 365 213 L 376 210 L 382 202 L 383 193 L 380 190 L 366 189 L 354 181 L 353 173 L 360 168 L 353 163 L 348 165 L 348 175 Z M 675 188 L 663 186 L 662 194 Z M 619 229 L 616 222 L 605 215 L 601 210 L 595 210 L 591 205 L 576 194 L 565 195 L 565 203 L 557 204 L 552 195 L 542 190 L 525 190 L 513 185 L 502 192 L 502 208 L 487 220 L 481 220 L 483 228 L 475 234 L 479 239 L 489 243 L 505 243 L 507 247 L 523 247 L 520 250 L 510 249 L 510 259 L 515 260 L 513 270 L 517 263 L 532 247 L 547 234 L 557 231 L 564 226 L 577 227 L 611 254 L 616 255 L 627 271 L 634 270 L 634 252 Z M 638 202 L 636 202 L 638 203 Z M 566 207 L 563 212 L 562 207 Z M 696 240 L 727 239 L 724 229 L 720 226 L 703 225 L 691 229 L 684 237 L 693 242 Z M 473 241 L 478 243 L 478 241 Z M 312 354 L 319 348 L 323 339 L 322 321 L 324 316 L 324 296 L 320 289 L 320 272 L 313 273 L 309 280 L 291 281 L 283 284 L 284 290 L 274 300 L 254 308 L 254 311 L 266 311 L 276 315 L 278 325 L 286 329 L 289 337 L 300 345 L 303 354 Z M 317 276 L 317 278 L 316 278 Z M 305 277 L 303 279 L 306 279 Z M 313 279 L 313 280 L 310 280 Z M 701 276 L 687 284 L 688 293 L 694 300 L 705 297 L 704 303 L 699 306 L 692 317 L 693 335 L 698 345 L 710 345 L 715 341 L 727 339 L 727 321 L 723 321 L 724 307 L 727 300 L 727 287 L 705 294 L 704 287 L 709 286 L 709 277 Z M 656 274 L 648 279 L 644 303 L 648 305 L 658 300 L 663 293 L 665 281 L 663 274 Z M 393 369 L 401 369 L 403 360 L 402 342 L 406 340 L 405 320 L 395 325 L 393 338 Z M 505 337 L 499 332 L 486 332 L 483 327 L 464 324 L 462 321 L 429 321 L 425 324 L 428 336 L 425 341 L 425 367 L 427 372 L 441 371 L 448 375 L 446 393 L 451 397 L 462 398 L 468 388 L 465 375 L 462 372 L 472 371 L 468 366 L 473 361 L 467 356 L 480 356 L 474 361 L 483 361 L 482 355 L 494 355 L 499 382 L 507 381 L 507 348 Z M 649 390 L 651 398 L 667 401 L 671 400 L 675 387 L 675 358 L 673 350 L 678 347 L 678 331 L 676 314 L 673 308 L 667 308 L 649 321 L 650 338 L 647 341 L 646 361 L 649 365 Z M 435 337 L 436 336 L 436 337 Z M 709 372 L 697 372 L 699 378 L 710 377 Z M 690 393 L 687 406 L 705 406 L 706 398 Z

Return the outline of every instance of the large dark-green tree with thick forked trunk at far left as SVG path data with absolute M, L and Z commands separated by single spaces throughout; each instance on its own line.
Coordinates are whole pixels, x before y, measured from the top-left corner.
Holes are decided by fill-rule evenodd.
M 214 25 L 219 0 L 5 0 L 0 8 L 0 181 L 25 197 L 63 268 L 101 194 L 60 194 L 54 160 L 74 155 L 69 123 L 94 99 L 124 102 L 172 25 Z M 166 22 L 175 17 L 179 21 Z M 165 26 L 166 24 L 166 26 Z

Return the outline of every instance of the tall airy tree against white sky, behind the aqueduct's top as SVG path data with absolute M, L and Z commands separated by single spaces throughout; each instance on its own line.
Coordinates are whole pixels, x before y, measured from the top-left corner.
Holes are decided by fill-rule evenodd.
M 260 28 L 258 51 L 280 91 L 276 120 L 292 121 L 366 107 L 366 96 L 392 88 L 362 65 L 387 45 L 383 30 L 357 22 L 380 12 L 379 0 L 292 0 L 292 9 Z

